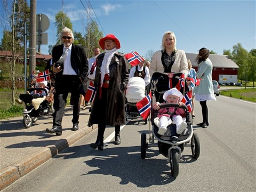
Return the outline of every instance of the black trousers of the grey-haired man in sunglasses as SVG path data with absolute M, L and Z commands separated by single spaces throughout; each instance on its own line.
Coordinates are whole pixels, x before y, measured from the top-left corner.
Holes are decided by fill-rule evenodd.
M 56 78 L 55 81 L 55 94 L 53 106 L 55 113 L 53 115 L 53 127 L 59 127 L 61 129 L 61 122 L 65 106 L 67 104 L 68 93 L 71 93 L 73 100 L 73 119 L 72 122 L 79 123 L 79 88 L 81 81 L 77 75 L 62 75 Z

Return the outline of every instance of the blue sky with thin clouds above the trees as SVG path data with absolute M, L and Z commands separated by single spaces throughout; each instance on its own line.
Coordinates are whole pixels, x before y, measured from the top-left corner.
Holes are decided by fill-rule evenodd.
M 82 3 L 81 3 L 82 1 Z M 233 50 L 241 43 L 244 49 L 256 49 L 256 1 L 97 1 L 91 0 L 37 0 L 36 13 L 50 19 L 48 43 L 55 44 L 55 14 L 62 9 L 73 23 L 73 30 L 85 34 L 87 12 L 90 10 L 104 36 L 114 34 L 125 53 L 161 49 L 165 31 L 173 31 L 177 48 L 197 53 L 206 47 L 218 54 Z M 90 9 L 92 8 L 90 6 Z M 95 14 L 97 18 L 95 17 Z M 1 31 L 2 38 L 2 31 Z M 41 45 L 47 54 L 48 45 Z M 89 55 L 91 57 L 92 55 Z

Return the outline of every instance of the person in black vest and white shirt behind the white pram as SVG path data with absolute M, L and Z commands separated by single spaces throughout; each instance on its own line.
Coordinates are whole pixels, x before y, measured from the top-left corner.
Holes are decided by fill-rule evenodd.
M 145 81 L 147 94 L 150 90 L 150 74 L 148 67 L 144 66 L 145 61 L 141 61 L 137 66 L 133 66 L 130 69 L 129 79 L 132 77 L 141 77 Z

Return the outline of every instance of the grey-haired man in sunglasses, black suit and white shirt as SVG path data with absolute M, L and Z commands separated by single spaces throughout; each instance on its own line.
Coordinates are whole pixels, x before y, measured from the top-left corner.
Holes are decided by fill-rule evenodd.
M 52 129 L 46 129 L 47 133 L 62 134 L 62 117 L 67 103 L 68 93 L 71 93 L 74 103 L 73 127 L 71 130 L 78 130 L 79 123 L 79 93 L 82 82 L 86 79 L 88 72 L 88 60 L 83 47 L 74 45 L 73 31 L 67 27 L 60 33 L 62 44 L 53 47 L 52 66 L 55 77 L 55 94 Z M 61 61 L 60 61 L 61 60 Z

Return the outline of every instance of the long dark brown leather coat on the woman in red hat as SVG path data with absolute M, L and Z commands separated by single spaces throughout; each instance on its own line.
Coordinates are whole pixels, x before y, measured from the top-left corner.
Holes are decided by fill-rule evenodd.
M 95 73 L 94 86 L 99 91 L 100 86 L 100 68 L 104 58 L 102 53 L 97 57 L 97 70 Z M 122 53 L 115 53 L 109 64 L 109 87 L 107 98 L 106 124 L 110 126 L 125 124 L 125 89 L 128 83 L 129 71 L 128 61 Z M 97 105 L 96 97 L 93 103 L 88 126 L 99 124 L 99 111 L 101 106 Z

